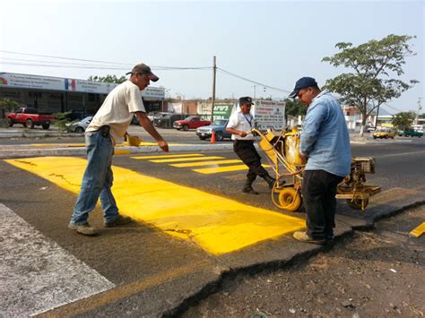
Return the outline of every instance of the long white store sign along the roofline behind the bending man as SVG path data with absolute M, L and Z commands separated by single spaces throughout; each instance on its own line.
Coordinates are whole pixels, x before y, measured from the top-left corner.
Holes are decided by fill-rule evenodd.
M 117 85 L 112 82 L 92 82 L 49 76 L 0 73 L 0 87 L 108 94 Z M 164 99 L 165 90 L 159 87 L 148 87 L 142 91 L 142 97 L 147 99 Z

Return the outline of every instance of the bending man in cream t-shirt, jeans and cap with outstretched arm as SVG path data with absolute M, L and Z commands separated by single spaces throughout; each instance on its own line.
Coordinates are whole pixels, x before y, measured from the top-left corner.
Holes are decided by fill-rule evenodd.
M 146 64 L 137 64 L 130 72 L 130 79 L 112 90 L 86 129 L 87 168 L 82 177 L 82 187 L 75 202 L 74 213 L 68 228 L 86 236 L 95 235 L 96 229 L 89 225 L 89 212 L 100 199 L 104 213 L 104 226 L 116 227 L 130 223 L 131 218 L 118 213 L 117 203 L 111 191 L 112 156 L 114 145 L 126 135 L 135 114 L 140 125 L 158 142 L 160 149 L 169 150 L 169 145 L 152 126 L 146 116 L 140 94 L 150 82 L 159 77 Z M 129 74 L 129 73 L 127 73 Z

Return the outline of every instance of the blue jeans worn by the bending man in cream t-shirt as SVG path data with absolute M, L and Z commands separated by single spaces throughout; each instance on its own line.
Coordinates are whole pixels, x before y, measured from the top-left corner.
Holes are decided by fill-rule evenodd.
M 71 223 L 87 224 L 89 212 L 94 209 L 99 198 L 105 222 L 114 221 L 119 216 L 117 203 L 110 189 L 113 182 L 111 165 L 114 146 L 110 136 L 104 137 L 99 131 L 86 133 L 85 143 L 88 163 Z

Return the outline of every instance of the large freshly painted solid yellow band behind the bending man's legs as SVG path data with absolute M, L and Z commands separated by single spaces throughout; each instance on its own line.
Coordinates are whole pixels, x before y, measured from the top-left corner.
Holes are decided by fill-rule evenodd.
M 7 159 L 73 193 L 80 191 L 87 161 L 72 157 Z M 120 212 L 154 225 L 171 236 L 225 254 L 277 238 L 300 228 L 303 219 L 177 185 L 126 168 L 112 167 L 113 193 Z

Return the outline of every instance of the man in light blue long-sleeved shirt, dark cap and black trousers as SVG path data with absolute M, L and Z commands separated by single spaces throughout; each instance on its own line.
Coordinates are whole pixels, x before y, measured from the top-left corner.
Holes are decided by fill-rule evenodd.
M 308 107 L 299 145 L 300 157 L 307 160 L 301 187 L 307 230 L 293 236 L 325 244 L 334 238 L 336 187 L 350 174 L 350 136 L 340 105 L 328 90 L 319 90 L 315 79 L 299 79 L 290 95 L 295 97 Z

